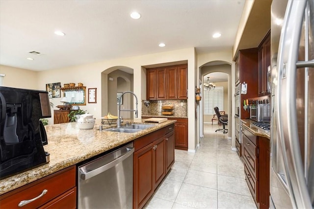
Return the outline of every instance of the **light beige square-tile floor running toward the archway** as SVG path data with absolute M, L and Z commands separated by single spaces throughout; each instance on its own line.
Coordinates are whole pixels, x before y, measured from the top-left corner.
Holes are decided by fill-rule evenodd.
M 205 124 L 196 153 L 175 150 L 175 163 L 146 209 L 256 209 L 244 167 L 227 134 Z

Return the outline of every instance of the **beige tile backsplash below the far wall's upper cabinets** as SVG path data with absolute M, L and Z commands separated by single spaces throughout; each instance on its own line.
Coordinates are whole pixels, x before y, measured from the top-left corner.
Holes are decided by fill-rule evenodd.
M 146 100 L 142 100 L 142 115 L 161 115 L 161 107 L 163 105 L 174 105 L 174 115 L 187 115 L 187 100 L 151 100 L 146 105 Z

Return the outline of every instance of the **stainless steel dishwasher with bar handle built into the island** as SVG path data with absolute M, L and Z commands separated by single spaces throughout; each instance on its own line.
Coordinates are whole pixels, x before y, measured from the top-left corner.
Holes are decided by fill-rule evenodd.
M 131 209 L 133 142 L 78 166 L 78 209 Z

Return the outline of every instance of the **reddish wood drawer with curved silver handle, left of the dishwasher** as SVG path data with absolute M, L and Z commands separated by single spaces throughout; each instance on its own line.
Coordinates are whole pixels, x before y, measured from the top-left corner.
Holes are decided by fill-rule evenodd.
M 59 171 L 55 174 L 47 176 L 36 182 L 30 183 L 26 186 L 13 190 L 1 196 L 1 208 L 19 208 L 18 205 L 23 200 L 31 200 L 42 194 L 43 190 L 47 193 L 42 197 L 26 204 L 23 208 L 38 208 L 57 196 L 63 194 L 76 185 L 76 167 L 72 166 Z

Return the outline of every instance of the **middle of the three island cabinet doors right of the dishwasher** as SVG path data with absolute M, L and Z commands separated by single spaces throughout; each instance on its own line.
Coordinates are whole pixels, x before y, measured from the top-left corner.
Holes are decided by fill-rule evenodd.
M 155 166 L 155 188 L 165 176 L 165 140 L 164 137 L 154 142 L 154 166 Z

